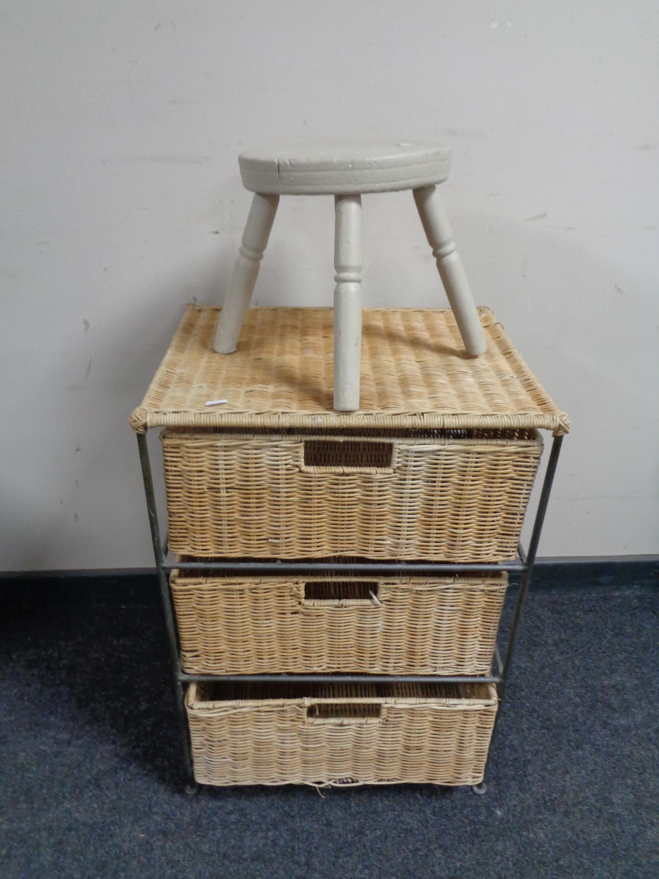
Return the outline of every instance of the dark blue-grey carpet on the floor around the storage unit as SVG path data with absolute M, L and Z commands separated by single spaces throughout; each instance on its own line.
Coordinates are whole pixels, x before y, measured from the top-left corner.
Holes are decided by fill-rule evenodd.
M 658 609 L 648 592 L 530 596 L 484 796 L 187 796 L 158 608 L 14 609 L 0 623 L 0 875 L 656 877 Z

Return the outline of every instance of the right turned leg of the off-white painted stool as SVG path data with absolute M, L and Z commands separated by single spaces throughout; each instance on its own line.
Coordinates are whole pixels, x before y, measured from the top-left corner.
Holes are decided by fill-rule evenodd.
M 453 232 L 437 186 L 415 189 L 414 200 L 424 224 L 425 236 L 432 248 L 432 255 L 437 259 L 439 277 L 453 309 L 462 341 L 468 353 L 482 354 L 487 351 L 488 343 L 485 341 L 485 333 L 482 331 L 462 260 L 455 250 Z

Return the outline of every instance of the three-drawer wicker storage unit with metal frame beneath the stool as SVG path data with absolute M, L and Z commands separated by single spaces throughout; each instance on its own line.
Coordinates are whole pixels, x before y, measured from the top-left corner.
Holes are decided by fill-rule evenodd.
M 130 418 L 186 789 L 479 785 L 568 416 L 487 308 L 478 357 L 450 309 L 364 309 L 356 412 L 333 409 L 332 309 L 249 309 L 230 355 L 220 311 L 187 307 Z M 554 442 L 518 560 L 539 430 Z

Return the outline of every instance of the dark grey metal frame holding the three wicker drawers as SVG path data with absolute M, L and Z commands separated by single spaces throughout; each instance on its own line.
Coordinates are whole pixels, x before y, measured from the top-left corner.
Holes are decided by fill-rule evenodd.
M 358 683 L 491 683 L 496 685 L 496 692 L 499 697 L 499 708 L 503 702 L 506 684 L 511 671 L 511 662 L 515 650 L 515 642 L 517 640 L 519 622 L 522 618 L 522 610 L 531 584 L 533 574 L 533 564 L 540 543 L 540 534 L 545 521 L 547 512 L 547 504 L 549 503 L 549 495 L 554 483 L 554 474 L 558 464 L 559 454 L 561 453 L 561 445 L 563 438 L 561 436 L 554 437 L 552 449 L 547 462 L 547 470 L 545 479 L 542 483 L 540 492 L 540 501 L 533 522 L 533 530 L 531 541 L 529 542 L 528 552 L 524 551 L 521 543 L 518 545 L 518 559 L 513 562 L 505 562 L 501 564 L 449 564 L 449 563 L 432 563 L 432 562 L 287 562 L 283 560 L 274 560 L 268 562 L 259 561 L 218 561 L 218 562 L 182 562 L 176 563 L 170 559 L 167 540 L 164 543 L 160 536 L 160 527 L 158 524 L 158 513 L 156 510 L 156 495 L 154 493 L 153 476 L 151 473 L 151 464 L 148 457 L 148 445 L 146 433 L 137 434 L 137 444 L 140 449 L 141 472 L 144 479 L 144 491 L 147 499 L 148 522 L 151 527 L 151 540 L 153 541 L 154 556 L 156 557 L 156 568 L 158 572 L 158 585 L 160 586 L 160 594 L 163 599 L 163 611 L 165 617 L 165 628 L 167 630 L 167 640 L 170 645 L 170 658 L 172 663 L 174 692 L 177 698 L 178 716 L 181 727 L 181 736 L 183 739 L 183 750 L 185 760 L 185 774 L 187 778 L 186 791 L 194 793 L 199 789 L 199 785 L 194 781 L 194 773 L 192 767 L 192 752 L 190 746 L 190 735 L 188 732 L 187 718 L 185 716 L 185 689 L 184 685 L 192 680 L 217 680 L 217 681 L 336 681 L 341 683 L 358 682 Z M 219 572 L 240 571 L 241 573 L 257 573 L 261 576 L 278 576 L 279 574 L 293 574 L 296 572 L 305 573 L 327 573 L 344 575 L 347 571 L 355 574 L 387 574 L 393 576 L 396 574 L 446 574 L 446 573 L 465 573 L 467 571 L 495 571 L 505 570 L 509 572 L 521 573 L 522 579 L 519 585 L 518 598 L 515 602 L 515 609 L 512 615 L 511 630 L 508 635 L 508 643 L 503 655 L 503 659 L 499 653 L 498 647 L 495 649 L 495 665 L 496 674 L 489 677 L 482 676 L 446 676 L 446 675 L 378 675 L 378 674 L 186 674 L 181 667 L 181 656 L 177 640 L 177 628 L 174 620 L 174 610 L 171 602 L 169 572 L 177 568 L 178 570 L 208 570 Z M 496 718 L 498 720 L 499 712 Z M 479 786 L 476 786 L 479 788 Z M 475 791 L 476 793 L 484 793 L 484 785 L 482 789 Z

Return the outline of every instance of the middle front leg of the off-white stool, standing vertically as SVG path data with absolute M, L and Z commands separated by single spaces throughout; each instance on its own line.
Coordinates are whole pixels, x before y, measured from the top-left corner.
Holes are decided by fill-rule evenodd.
M 361 196 L 335 195 L 334 408 L 359 408 L 361 368 Z

